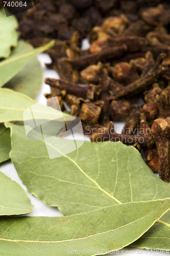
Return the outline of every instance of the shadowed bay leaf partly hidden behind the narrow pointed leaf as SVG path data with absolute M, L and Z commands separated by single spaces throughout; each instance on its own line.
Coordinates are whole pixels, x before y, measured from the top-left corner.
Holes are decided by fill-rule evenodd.
M 25 41 L 19 40 L 17 48 L 12 50 L 11 56 L 32 50 L 33 47 Z M 36 99 L 42 86 L 43 72 L 37 57 L 33 57 L 29 63 L 7 84 L 5 88 L 28 95 Z

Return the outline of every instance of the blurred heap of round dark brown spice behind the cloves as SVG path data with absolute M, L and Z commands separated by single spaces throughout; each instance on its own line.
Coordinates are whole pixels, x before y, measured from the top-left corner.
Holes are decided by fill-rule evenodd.
M 159 3 L 164 4 L 164 14 L 161 7 L 156 11 L 152 9 Z M 149 7 L 150 11 L 145 11 Z M 168 25 L 168 8 L 165 0 L 41 0 L 34 8 L 18 14 L 17 18 L 19 31 L 25 39 L 38 36 L 69 40 L 75 32 L 79 32 L 81 44 L 81 40 L 87 37 L 93 27 L 101 26 L 104 18 L 112 16 L 122 16 L 121 21 L 115 19 L 112 28 L 108 27 L 112 23 L 110 19 L 103 25 L 113 37 L 121 35 L 127 28 L 126 33 L 132 35 L 135 27 L 136 32 L 143 36 L 143 33 L 151 31 L 150 28 L 158 23 Z M 139 20 L 141 17 L 147 23 Z M 95 31 L 92 38 L 96 39 Z

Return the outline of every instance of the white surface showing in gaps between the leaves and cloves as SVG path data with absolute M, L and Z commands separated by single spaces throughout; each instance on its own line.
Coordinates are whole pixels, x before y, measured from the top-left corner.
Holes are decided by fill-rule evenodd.
M 86 48 L 86 44 L 84 44 L 84 49 Z M 38 56 L 38 59 L 41 62 L 41 66 L 44 70 L 44 78 L 46 77 L 51 77 L 51 78 L 59 78 L 58 74 L 54 70 L 48 70 L 45 67 L 45 63 L 51 62 L 50 57 L 47 54 L 40 54 Z M 50 87 L 43 83 L 41 92 L 39 93 L 37 97 L 37 101 L 41 104 L 46 105 L 46 98 L 44 97 L 44 93 L 50 93 Z M 123 129 L 124 122 L 116 122 L 116 132 L 120 132 Z M 8 175 L 12 180 L 15 180 L 18 182 L 23 189 L 27 191 L 27 187 L 22 184 L 22 181 L 19 179 L 17 172 L 14 168 L 14 165 L 10 162 L 7 161 L 3 164 L 1 164 L 0 169 L 3 173 Z M 28 193 L 28 191 L 27 191 Z M 49 207 L 45 205 L 43 202 L 41 202 L 38 198 L 34 197 L 30 193 L 28 193 L 28 196 L 30 198 L 31 203 L 34 205 L 34 209 L 30 214 L 27 214 L 25 216 L 47 216 L 47 217 L 58 217 L 62 216 L 61 212 L 56 208 L 56 207 Z M 123 254 L 123 255 L 162 255 L 163 253 L 158 252 L 158 251 L 148 251 L 148 250 L 140 250 L 140 249 L 135 249 L 135 248 L 124 248 L 119 251 L 115 251 L 113 253 L 110 253 L 111 255 L 115 254 Z M 166 253 L 167 254 L 167 253 Z M 56 254 L 57 255 L 57 254 Z M 108 254 L 107 254 L 108 255 Z

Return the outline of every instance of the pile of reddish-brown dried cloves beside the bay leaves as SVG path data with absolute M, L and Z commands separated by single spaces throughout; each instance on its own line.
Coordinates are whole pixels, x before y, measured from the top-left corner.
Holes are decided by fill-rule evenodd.
M 101 26 L 91 29 L 88 50 L 79 48 L 78 31 L 69 40 L 56 40 L 47 51 L 52 58 L 47 67 L 60 79 L 45 80 L 51 87 L 46 97 L 58 96 L 62 111 L 67 105 L 71 115 L 79 116 L 91 141 L 135 146 L 153 172 L 169 182 L 170 5 L 142 7 L 134 14 L 124 2 L 124 8 L 114 9 L 112 16 L 108 12 Z M 128 1 L 130 6 L 139 2 Z M 37 47 L 50 38 L 30 41 Z M 136 104 L 138 99 L 142 103 Z M 112 121 L 126 121 L 122 134 Z

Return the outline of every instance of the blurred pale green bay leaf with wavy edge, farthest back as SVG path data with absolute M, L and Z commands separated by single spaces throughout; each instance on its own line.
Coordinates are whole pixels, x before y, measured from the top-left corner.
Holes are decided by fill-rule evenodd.
M 16 29 L 18 22 L 15 16 L 6 16 L 5 10 L 0 9 L 0 59 L 7 58 L 11 54 L 11 47 L 16 47 L 18 34 Z M 1 72 L 0 72 L 1 73 Z

